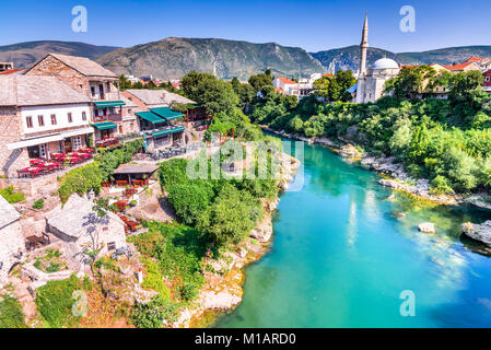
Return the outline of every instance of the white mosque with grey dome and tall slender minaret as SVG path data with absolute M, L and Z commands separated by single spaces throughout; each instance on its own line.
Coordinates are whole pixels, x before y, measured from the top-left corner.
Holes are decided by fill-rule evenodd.
M 369 19 L 363 24 L 362 42 L 360 44 L 360 70 L 356 83 L 356 103 L 375 102 L 384 95 L 385 82 L 396 77 L 399 65 L 389 58 L 381 58 L 370 69 L 366 69 L 369 49 Z

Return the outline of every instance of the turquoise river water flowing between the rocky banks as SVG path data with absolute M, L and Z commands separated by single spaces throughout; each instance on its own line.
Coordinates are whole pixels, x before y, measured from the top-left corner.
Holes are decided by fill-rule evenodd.
M 387 200 L 376 174 L 319 145 L 304 145 L 303 166 L 271 250 L 246 268 L 243 303 L 215 327 L 491 327 L 491 260 L 460 238 L 489 211 Z M 426 221 L 435 234 L 418 231 Z M 412 317 L 400 314 L 407 290 Z

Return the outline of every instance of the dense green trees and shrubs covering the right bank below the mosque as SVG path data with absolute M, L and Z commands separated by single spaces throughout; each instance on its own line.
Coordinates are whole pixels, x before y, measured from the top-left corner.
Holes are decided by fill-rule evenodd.
M 326 80 L 336 82 L 336 75 Z M 445 86 L 448 100 L 411 98 L 424 95 L 425 81 Z M 489 191 L 491 107 L 482 83 L 477 71 L 436 74 L 430 67 L 405 68 L 386 85 L 394 96 L 373 104 L 343 102 L 339 94 L 319 103 L 318 96 L 330 94 L 327 84 L 327 94 L 315 91 L 293 108 L 266 88 L 269 93 L 256 98 L 249 116 L 276 130 L 348 140 L 374 155 L 393 155 L 413 177 L 429 178 L 435 194 Z

